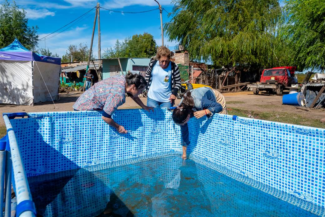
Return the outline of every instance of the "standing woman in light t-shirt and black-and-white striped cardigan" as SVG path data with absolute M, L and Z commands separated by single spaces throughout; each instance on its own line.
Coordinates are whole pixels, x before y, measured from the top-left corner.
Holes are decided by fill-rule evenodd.
M 170 50 L 161 46 L 157 49 L 155 58 L 149 63 L 146 72 L 149 107 L 168 108 L 174 105 L 181 77 L 178 66 L 169 60 L 170 56 Z

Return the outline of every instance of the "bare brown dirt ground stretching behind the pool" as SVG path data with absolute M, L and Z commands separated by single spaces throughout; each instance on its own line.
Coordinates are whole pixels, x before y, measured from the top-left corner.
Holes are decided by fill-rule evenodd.
M 81 95 L 81 92 L 60 93 L 60 100 L 52 102 L 37 103 L 34 106 L 18 106 L 0 104 L 0 113 L 4 112 L 46 112 L 46 111 L 72 111 L 72 105 Z M 282 105 L 282 96 L 277 95 L 254 95 L 253 92 L 243 91 L 237 93 L 223 93 L 226 99 L 227 108 L 243 109 L 246 111 L 257 112 L 287 112 L 295 113 L 307 119 L 320 120 L 325 118 L 324 109 L 310 109 L 309 111 L 296 109 L 294 106 Z M 141 98 L 146 104 L 147 99 Z M 176 104 L 179 103 L 176 100 Z M 140 108 L 130 97 L 119 108 Z M 229 112 L 230 113 L 230 112 Z M 3 119 L 0 118 L 0 125 L 4 125 Z M 324 127 L 325 128 L 325 125 Z

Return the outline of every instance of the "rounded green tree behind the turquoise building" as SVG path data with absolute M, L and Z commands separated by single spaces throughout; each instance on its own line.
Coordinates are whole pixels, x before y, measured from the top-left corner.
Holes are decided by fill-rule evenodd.
M 125 38 L 121 43 L 116 40 L 113 48 L 106 49 L 103 53 L 104 58 L 116 57 L 151 57 L 156 54 L 156 42 L 153 36 L 144 33 L 134 35 L 132 38 Z

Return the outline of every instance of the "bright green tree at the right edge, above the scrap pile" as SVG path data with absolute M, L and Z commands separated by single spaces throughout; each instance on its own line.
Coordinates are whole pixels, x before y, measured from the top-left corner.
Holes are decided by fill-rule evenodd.
M 280 33 L 300 69 L 325 69 L 325 1 L 287 0 Z

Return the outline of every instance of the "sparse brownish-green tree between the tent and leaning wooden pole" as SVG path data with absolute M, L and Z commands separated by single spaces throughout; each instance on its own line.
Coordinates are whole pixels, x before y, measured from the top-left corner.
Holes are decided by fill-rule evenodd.
M 78 45 L 69 45 L 66 54 L 62 56 L 61 62 L 70 62 L 72 56 L 73 61 L 88 61 L 89 48 L 88 45 L 80 43 Z M 93 51 L 91 51 L 90 59 L 94 59 Z

